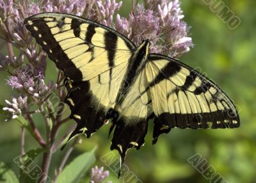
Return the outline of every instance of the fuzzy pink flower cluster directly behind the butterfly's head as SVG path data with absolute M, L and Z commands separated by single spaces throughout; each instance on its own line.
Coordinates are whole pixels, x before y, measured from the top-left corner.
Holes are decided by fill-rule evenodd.
M 115 29 L 137 46 L 150 40 L 150 52 L 178 58 L 193 47 L 183 17 L 179 0 L 145 0 L 145 7 L 138 4 L 129 19 L 117 15 Z

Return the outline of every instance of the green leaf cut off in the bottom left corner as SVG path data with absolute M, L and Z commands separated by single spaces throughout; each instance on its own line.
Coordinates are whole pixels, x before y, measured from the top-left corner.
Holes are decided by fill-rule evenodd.
M 0 182 L 19 183 L 15 173 L 2 161 L 0 162 Z

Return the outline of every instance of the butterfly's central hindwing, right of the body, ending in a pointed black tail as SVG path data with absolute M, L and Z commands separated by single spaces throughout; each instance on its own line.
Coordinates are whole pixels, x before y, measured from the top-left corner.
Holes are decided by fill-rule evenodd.
M 118 118 L 114 120 L 115 132 L 111 143 L 111 149 L 117 149 L 124 162 L 125 154 L 129 148 L 139 149 L 144 144 L 147 134 L 148 120 L 152 115 L 150 93 L 148 88 L 145 68 L 141 70 L 134 83 L 127 91 L 123 100 L 116 105 Z

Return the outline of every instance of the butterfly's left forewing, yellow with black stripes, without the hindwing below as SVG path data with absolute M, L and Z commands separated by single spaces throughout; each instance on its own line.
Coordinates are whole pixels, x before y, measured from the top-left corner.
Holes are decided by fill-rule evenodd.
M 41 13 L 24 24 L 49 58 L 73 81 L 88 81 L 127 62 L 134 49 L 127 38 L 112 29 L 74 15 Z

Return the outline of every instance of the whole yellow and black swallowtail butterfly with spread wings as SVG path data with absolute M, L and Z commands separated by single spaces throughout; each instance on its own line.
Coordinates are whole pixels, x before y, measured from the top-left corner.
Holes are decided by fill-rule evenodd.
M 107 26 L 63 13 L 40 13 L 24 24 L 67 77 L 65 102 L 77 122 L 70 138 L 90 138 L 111 122 L 111 150 L 118 150 L 121 164 L 129 148 L 143 145 L 150 119 L 153 143 L 175 127 L 239 127 L 236 107 L 216 84 L 178 60 L 148 52 L 148 40 L 136 47 Z

